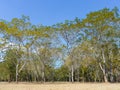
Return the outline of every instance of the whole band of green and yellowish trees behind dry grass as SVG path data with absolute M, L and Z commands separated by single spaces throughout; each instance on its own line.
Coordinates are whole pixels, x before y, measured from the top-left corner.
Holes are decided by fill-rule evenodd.
M 118 8 L 52 26 L 0 19 L 0 81 L 119 82 Z

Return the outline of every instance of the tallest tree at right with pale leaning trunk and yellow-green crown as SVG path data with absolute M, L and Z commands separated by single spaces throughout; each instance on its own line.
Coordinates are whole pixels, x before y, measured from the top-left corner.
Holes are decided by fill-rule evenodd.
M 86 34 L 89 35 L 89 39 L 92 40 L 94 46 L 93 48 L 96 50 L 95 55 L 98 53 L 96 57 L 99 58 L 99 66 L 103 72 L 105 82 L 108 82 L 107 58 L 105 57 L 105 48 L 102 46 L 104 43 L 115 39 L 113 37 L 116 32 L 114 24 L 117 23 L 117 20 L 114 13 L 106 8 L 88 14 L 87 18 L 83 20 Z

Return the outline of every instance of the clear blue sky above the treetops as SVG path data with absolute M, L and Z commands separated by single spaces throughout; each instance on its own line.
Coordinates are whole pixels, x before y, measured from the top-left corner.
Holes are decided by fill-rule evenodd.
M 53 25 L 115 6 L 120 9 L 120 0 L 0 0 L 0 19 L 10 21 L 26 15 L 33 24 Z

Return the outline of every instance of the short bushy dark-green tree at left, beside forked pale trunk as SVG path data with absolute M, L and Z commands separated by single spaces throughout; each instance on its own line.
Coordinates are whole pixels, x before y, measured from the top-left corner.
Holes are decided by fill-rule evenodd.
M 16 77 L 16 73 L 20 73 L 20 70 L 21 70 L 21 64 L 19 64 L 18 68 L 16 68 L 16 65 L 18 63 L 18 59 L 22 57 L 22 52 L 17 51 L 17 49 L 9 49 L 7 50 L 6 52 L 6 55 L 4 57 L 5 61 L 5 66 L 6 66 L 6 70 L 8 72 L 8 79 L 9 81 L 14 81 L 15 80 L 15 77 Z M 19 70 L 18 72 L 16 72 L 16 69 Z

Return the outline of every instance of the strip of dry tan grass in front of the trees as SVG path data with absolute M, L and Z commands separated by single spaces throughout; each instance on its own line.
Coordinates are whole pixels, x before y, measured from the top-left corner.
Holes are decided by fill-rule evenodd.
M 120 84 L 110 83 L 0 83 L 0 90 L 120 90 Z

